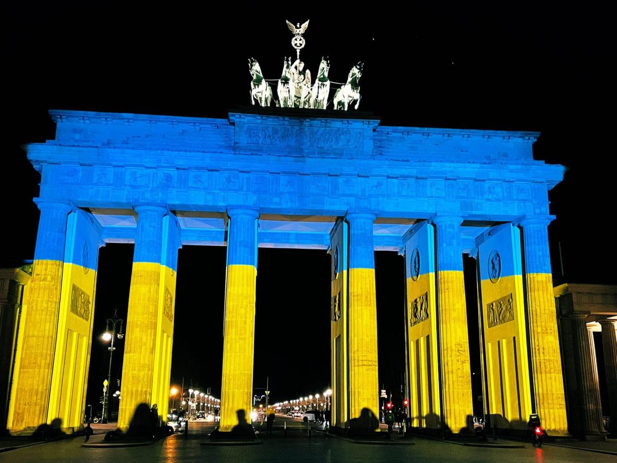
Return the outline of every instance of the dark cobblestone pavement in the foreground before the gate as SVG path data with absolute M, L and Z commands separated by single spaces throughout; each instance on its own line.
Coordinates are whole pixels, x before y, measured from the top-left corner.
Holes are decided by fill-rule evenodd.
M 254 446 L 205 446 L 211 427 L 191 423 L 188 438 L 173 435 L 153 444 L 136 448 L 83 448 L 83 438 L 44 443 L 0 453 L 4 462 L 603 462 L 615 456 L 570 448 L 544 446 L 525 448 L 481 448 L 459 446 L 413 438 L 415 445 L 355 444 L 336 437 L 315 434 L 312 437 L 288 435 L 263 436 L 263 444 Z

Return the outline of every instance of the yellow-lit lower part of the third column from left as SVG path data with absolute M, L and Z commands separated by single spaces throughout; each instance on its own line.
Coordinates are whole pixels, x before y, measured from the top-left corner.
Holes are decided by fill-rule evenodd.
M 255 338 L 254 265 L 228 265 L 223 330 L 223 383 L 219 430 L 238 424 L 238 411 L 250 422 Z

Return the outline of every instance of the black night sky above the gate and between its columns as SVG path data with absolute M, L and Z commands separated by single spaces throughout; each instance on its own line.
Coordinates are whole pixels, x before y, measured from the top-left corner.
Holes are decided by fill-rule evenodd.
M 38 210 L 31 199 L 39 175 L 20 144 L 53 138 L 49 109 L 226 117 L 249 104 L 247 58 L 259 61 L 266 78 L 280 77 L 283 57 L 295 54 L 285 20 L 310 19 L 302 60 L 316 75 L 321 56 L 329 56 L 332 81 L 344 81 L 352 65 L 365 62 L 360 109 L 381 117 L 382 125 L 540 131 L 534 158 L 569 168 L 550 193 L 555 283 L 616 284 L 614 129 L 607 130 L 615 112 L 608 85 L 614 74 L 607 71 L 615 57 L 612 16 L 589 2 L 554 9 L 494 3 L 303 3 L 294 10 L 289 2 L 284 8 L 263 2 L 250 11 L 238 4 L 215 12 L 176 2 L 20 2 L 3 12 L 0 28 L 0 265 L 33 258 Z M 106 345 L 96 336 L 114 307 L 126 315 L 132 255 L 127 244 L 108 244 L 100 253 L 88 388 L 95 407 L 108 367 Z M 376 252 L 375 261 L 379 383 L 396 392 L 404 372 L 404 265 L 394 252 Z M 465 259 L 474 358 L 473 265 Z M 290 266 L 294 273 L 286 272 Z M 254 386 L 259 392 L 269 376 L 273 401 L 329 385 L 329 268 L 325 251 L 259 249 Z M 184 379 L 185 388 L 220 394 L 224 289 L 224 248 L 180 250 L 172 362 L 178 386 Z

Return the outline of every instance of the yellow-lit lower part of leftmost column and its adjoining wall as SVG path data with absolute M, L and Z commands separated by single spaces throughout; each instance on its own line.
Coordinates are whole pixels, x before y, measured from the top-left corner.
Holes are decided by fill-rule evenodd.
M 30 434 L 59 419 L 83 426 L 96 272 L 60 261 L 35 261 L 17 340 L 7 428 Z

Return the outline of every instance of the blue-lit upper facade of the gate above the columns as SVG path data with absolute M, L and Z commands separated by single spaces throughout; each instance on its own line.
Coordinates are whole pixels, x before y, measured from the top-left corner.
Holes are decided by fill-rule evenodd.
M 181 244 L 225 244 L 230 209 L 259 214 L 261 247 L 329 245 L 337 217 L 373 214 L 375 249 L 414 223 L 463 219 L 463 251 L 502 222 L 548 217 L 564 167 L 534 161 L 539 133 L 386 127 L 349 114 L 231 112 L 228 119 L 50 111 L 56 138 L 27 145 L 40 198 L 135 240 L 139 205 L 178 219 Z

